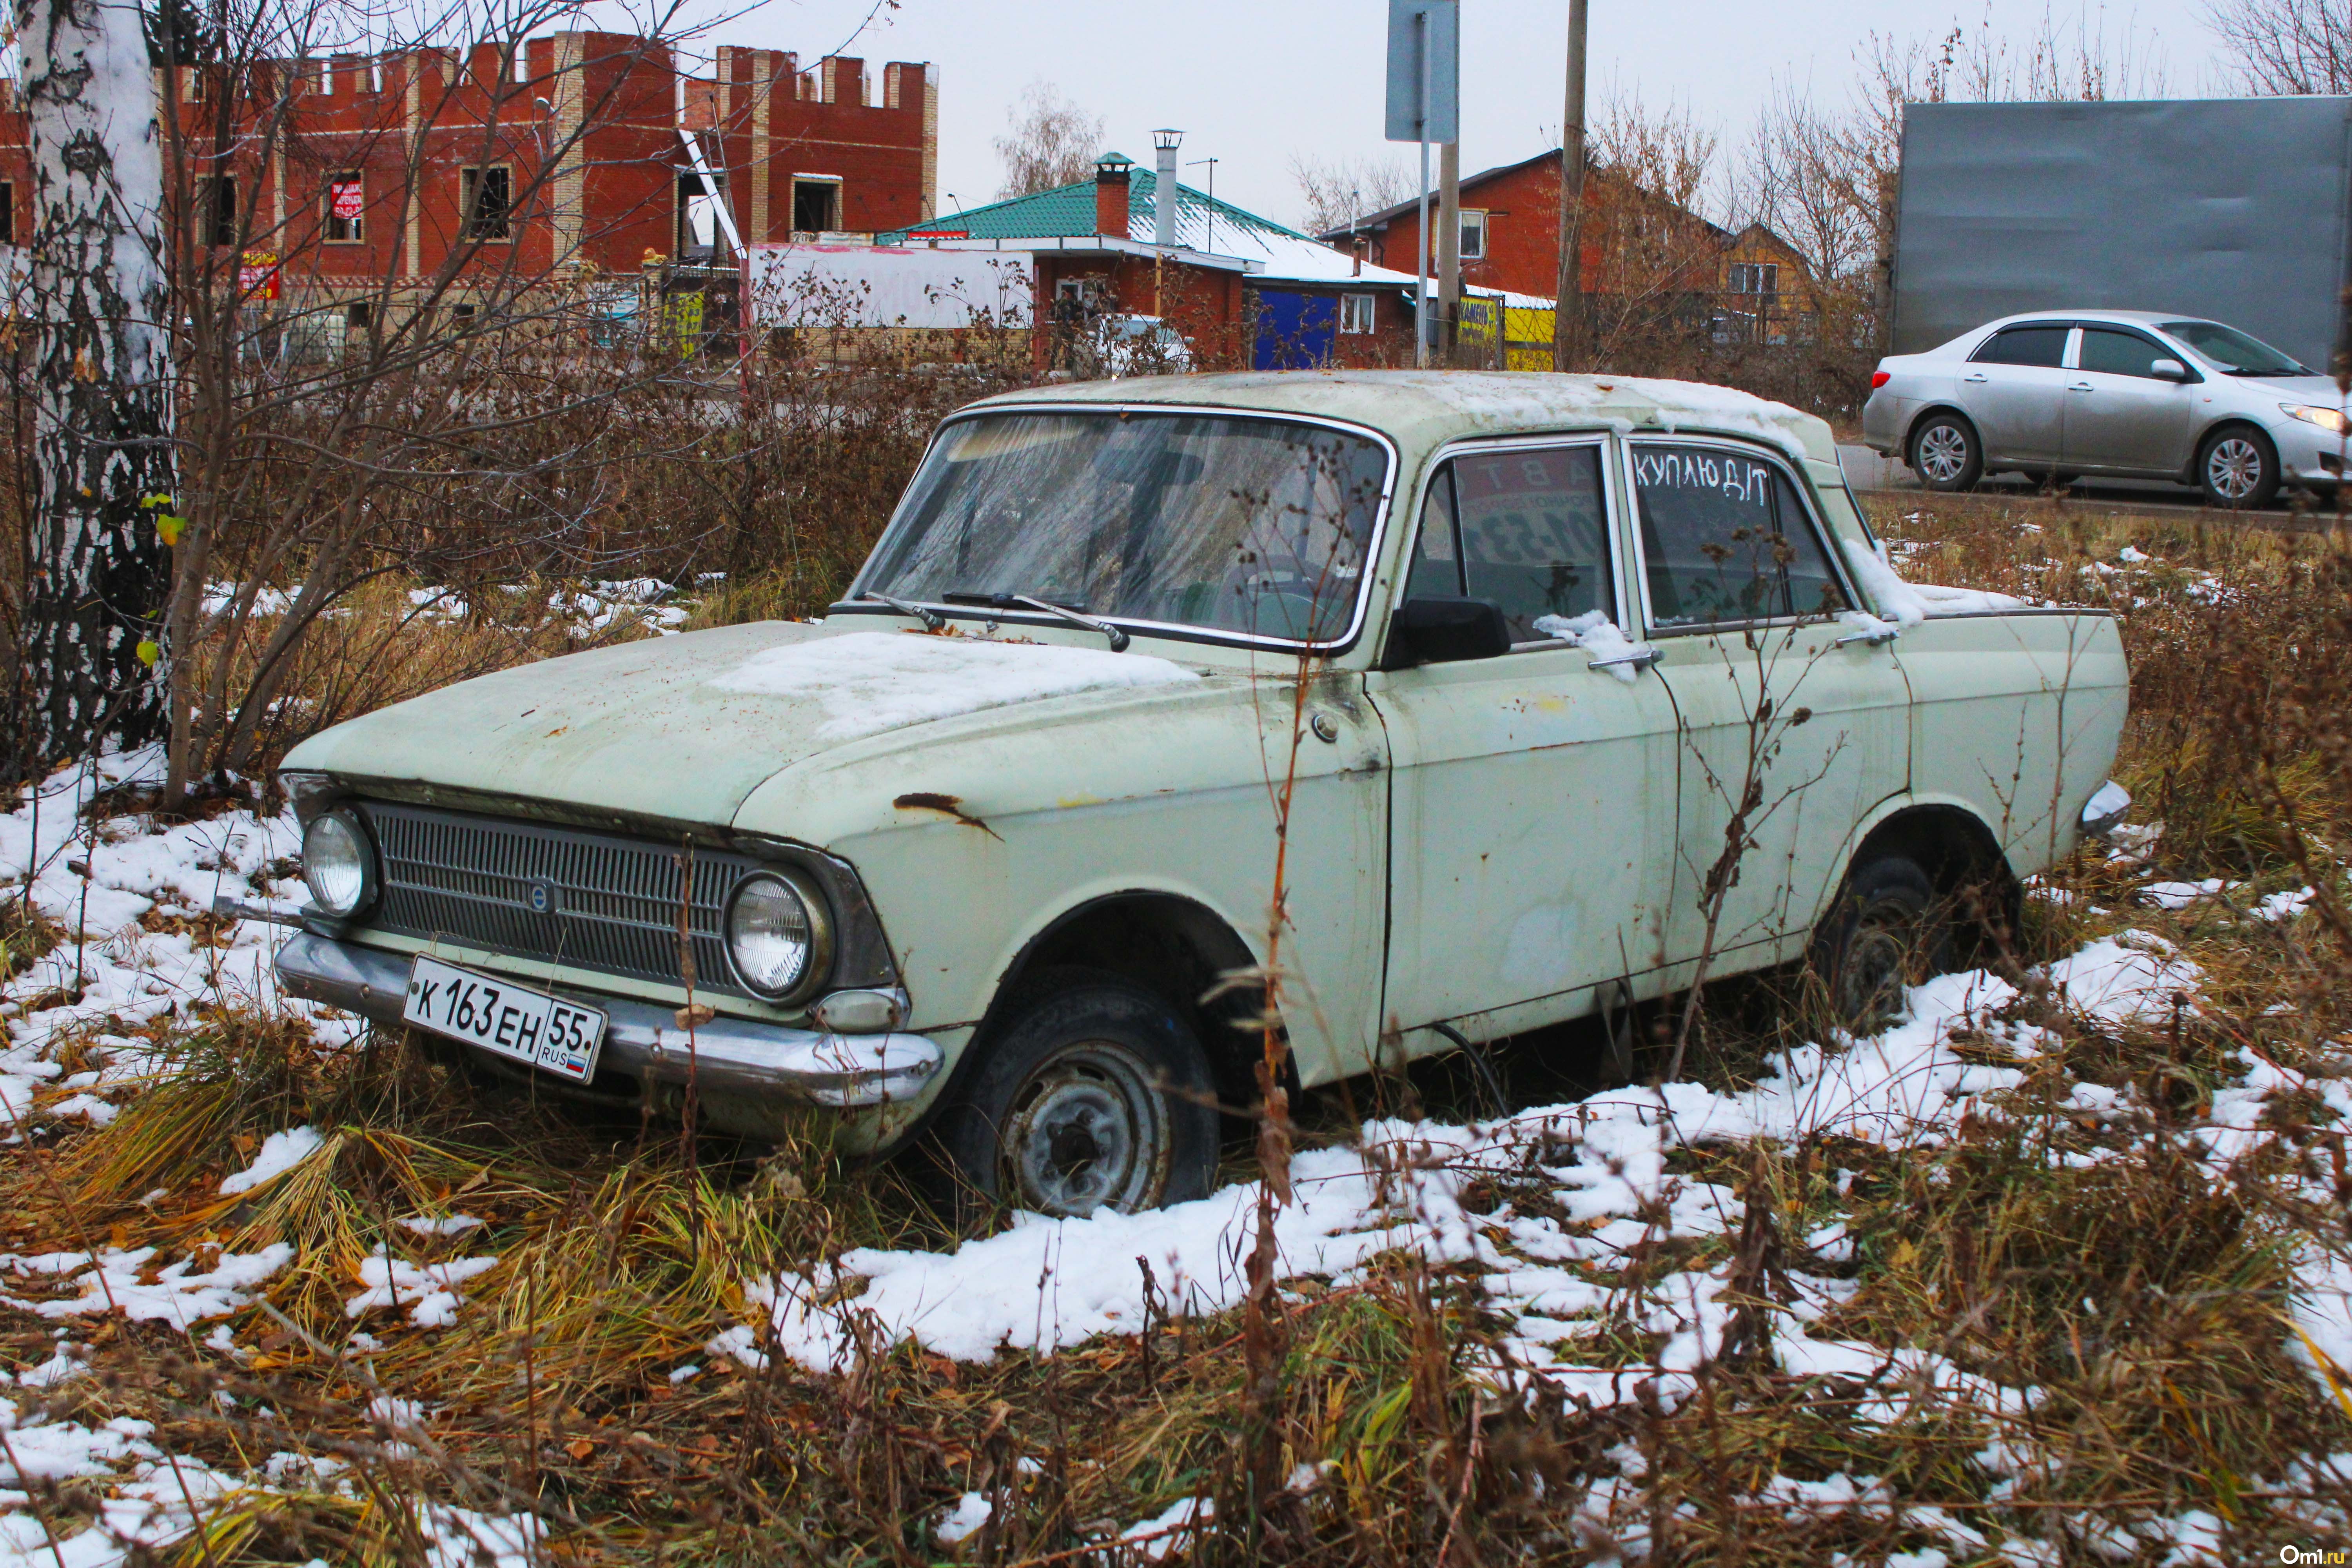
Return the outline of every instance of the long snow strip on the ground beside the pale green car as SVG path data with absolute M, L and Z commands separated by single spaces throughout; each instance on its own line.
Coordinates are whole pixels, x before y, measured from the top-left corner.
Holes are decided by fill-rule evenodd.
M 2138 1018 L 2161 1016 L 2173 990 L 2197 983 L 2197 971 L 2161 952 L 2093 943 L 2049 978 L 2079 1009 Z M 1597 1403 L 1630 1399 L 1635 1382 L 1663 1373 L 1663 1394 L 1675 1396 L 1722 1342 L 1731 1314 L 1719 1300 L 1726 1265 L 1670 1276 L 1649 1293 L 1639 1312 L 1668 1340 L 1649 1366 L 1592 1368 L 1555 1349 L 1573 1338 L 1576 1319 L 1623 1305 L 1625 1293 L 1595 1284 L 1590 1272 L 1618 1269 L 1632 1248 L 1656 1241 L 1656 1215 L 1665 1215 L 1672 1234 L 1738 1229 L 1738 1199 L 1672 1175 L 1670 1152 L 1748 1138 L 1792 1143 L 1809 1133 L 1940 1143 L 1964 1117 L 1990 1112 L 1985 1095 L 2023 1081 L 2013 1067 L 1971 1063 L 1952 1048 L 1952 1034 L 1966 1030 L 2032 1056 L 2042 1030 L 2002 1018 L 2016 1001 L 2018 990 L 1990 973 L 1940 976 L 1910 992 L 1910 1016 L 1893 1027 L 1835 1048 L 1802 1046 L 1740 1093 L 1665 1084 L 1526 1110 L 1482 1128 L 1367 1124 L 1357 1147 L 1296 1157 L 1296 1201 L 1275 1213 L 1279 1267 L 1291 1279 L 1345 1281 L 1390 1248 L 1475 1262 L 1486 1269 L 1489 1309 L 1517 1324 L 1505 1340 L 1517 1368 Z M 1463 1208 L 1461 1194 L 1482 1171 L 1529 1164 L 1541 1166 L 1562 1220 L 1515 1215 L 1505 1248 L 1486 1218 Z M 953 1253 L 851 1251 L 811 1274 L 746 1281 L 769 1312 L 764 1333 L 731 1328 L 708 1349 L 748 1366 L 781 1352 L 811 1371 L 835 1371 L 854 1356 L 854 1314 L 866 1331 L 960 1361 L 985 1361 L 1000 1349 L 1051 1354 L 1101 1333 L 1138 1333 L 1143 1265 L 1167 1312 L 1221 1312 L 1242 1300 L 1240 1260 L 1256 1201 L 1256 1185 L 1237 1185 L 1155 1213 L 1016 1215 L 1009 1229 Z M 1835 1279 L 1799 1284 L 1802 1302 L 1778 1347 L 1785 1363 L 1842 1375 L 1889 1363 L 1882 1347 L 1804 1335 L 1802 1324 L 1820 1316 L 1839 1288 Z M 1926 1387 L 1969 1389 L 1992 1406 L 2023 1399 L 1926 1352 L 1896 1352 L 1896 1361 Z

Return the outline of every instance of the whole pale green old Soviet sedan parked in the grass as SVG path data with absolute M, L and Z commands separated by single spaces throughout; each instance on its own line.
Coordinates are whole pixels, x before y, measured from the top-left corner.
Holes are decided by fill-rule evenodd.
M 1237 973 L 1277 976 L 1308 1086 L 1700 961 L 1811 950 L 1867 1013 L 1943 896 L 2119 813 L 2122 722 L 2107 618 L 1903 583 L 1780 404 L 1037 388 L 941 425 L 818 623 L 296 748 L 278 971 L 550 1088 L 936 1128 L 993 1199 L 1141 1208 L 1207 1190 L 1249 1093 Z

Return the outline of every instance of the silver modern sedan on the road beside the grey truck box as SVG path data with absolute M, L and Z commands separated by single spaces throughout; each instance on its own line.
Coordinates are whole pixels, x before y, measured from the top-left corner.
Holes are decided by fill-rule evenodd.
M 1863 440 L 1929 489 L 1987 473 L 2176 480 L 2213 505 L 2333 491 L 2336 381 L 2237 327 L 2157 310 L 2037 310 L 1879 360 Z

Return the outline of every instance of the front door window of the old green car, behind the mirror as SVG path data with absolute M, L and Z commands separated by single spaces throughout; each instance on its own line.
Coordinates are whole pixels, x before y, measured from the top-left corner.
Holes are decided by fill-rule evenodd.
M 1491 599 L 1512 642 L 1538 616 L 1616 614 L 1599 447 L 1465 454 L 1430 489 L 1406 595 Z

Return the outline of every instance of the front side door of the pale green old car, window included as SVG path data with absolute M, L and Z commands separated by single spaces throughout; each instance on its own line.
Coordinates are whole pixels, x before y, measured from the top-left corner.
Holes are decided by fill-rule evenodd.
M 1392 755 L 1383 1018 L 1409 1053 L 1444 1044 L 1432 1023 L 1491 1039 L 1573 1018 L 1656 964 L 1649 780 L 1672 708 L 1656 675 L 1559 635 L 1625 623 L 1613 468 L 1590 437 L 1432 470 L 1404 592 L 1489 599 L 1517 646 L 1367 679 Z

